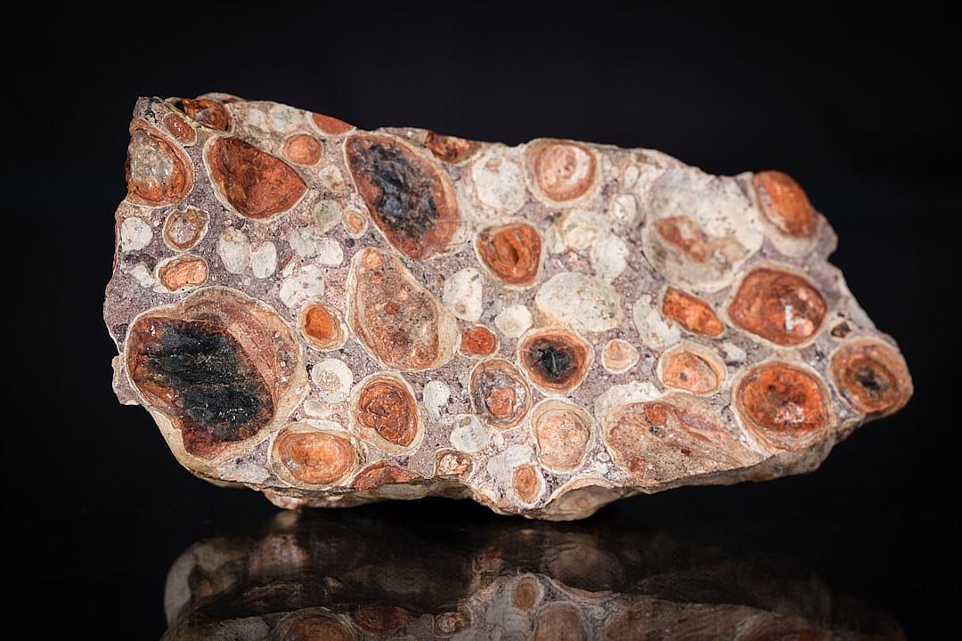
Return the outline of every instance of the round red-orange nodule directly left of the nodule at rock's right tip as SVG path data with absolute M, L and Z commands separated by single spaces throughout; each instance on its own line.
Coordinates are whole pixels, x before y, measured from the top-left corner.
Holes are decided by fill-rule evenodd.
M 773 450 L 803 450 L 822 440 L 830 427 L 823 383 L 785 362 L 749 370 L 735 390 L 735 407 L 746 429 Z

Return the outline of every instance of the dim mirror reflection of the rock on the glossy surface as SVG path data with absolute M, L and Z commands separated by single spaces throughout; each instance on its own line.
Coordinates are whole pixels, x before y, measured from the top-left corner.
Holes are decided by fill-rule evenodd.
M 602 519 L 444 522 L 285 512 L 196 543 L 167 576 L 167 641 L 901 639 L 796 561 Z

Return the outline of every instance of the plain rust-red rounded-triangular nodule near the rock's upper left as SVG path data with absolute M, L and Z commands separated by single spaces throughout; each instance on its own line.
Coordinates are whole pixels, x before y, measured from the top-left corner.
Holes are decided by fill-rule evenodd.
M 242 215 L 266 220 L 290 210 L 307 185 L 284 162 L 236 137 L 218 137 L 207 150 L 211 178 Z

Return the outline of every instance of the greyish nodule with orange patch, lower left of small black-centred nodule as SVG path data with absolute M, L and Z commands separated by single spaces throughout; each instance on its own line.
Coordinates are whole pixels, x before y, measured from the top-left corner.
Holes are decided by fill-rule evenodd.
M 531 408 L 531 390 L 507 360 L 491 358 L 474 368 L 471 402 L 485 421 L 502 430 L 519 425 Z

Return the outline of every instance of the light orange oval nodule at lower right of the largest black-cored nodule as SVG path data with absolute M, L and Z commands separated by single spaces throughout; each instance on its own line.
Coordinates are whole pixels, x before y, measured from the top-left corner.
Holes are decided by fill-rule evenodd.
M 273 451 L 291 477 L 311 485 L 338 481 L 357 463 L 357 451 L 347 438 L 324 431 L 282 431 Z

